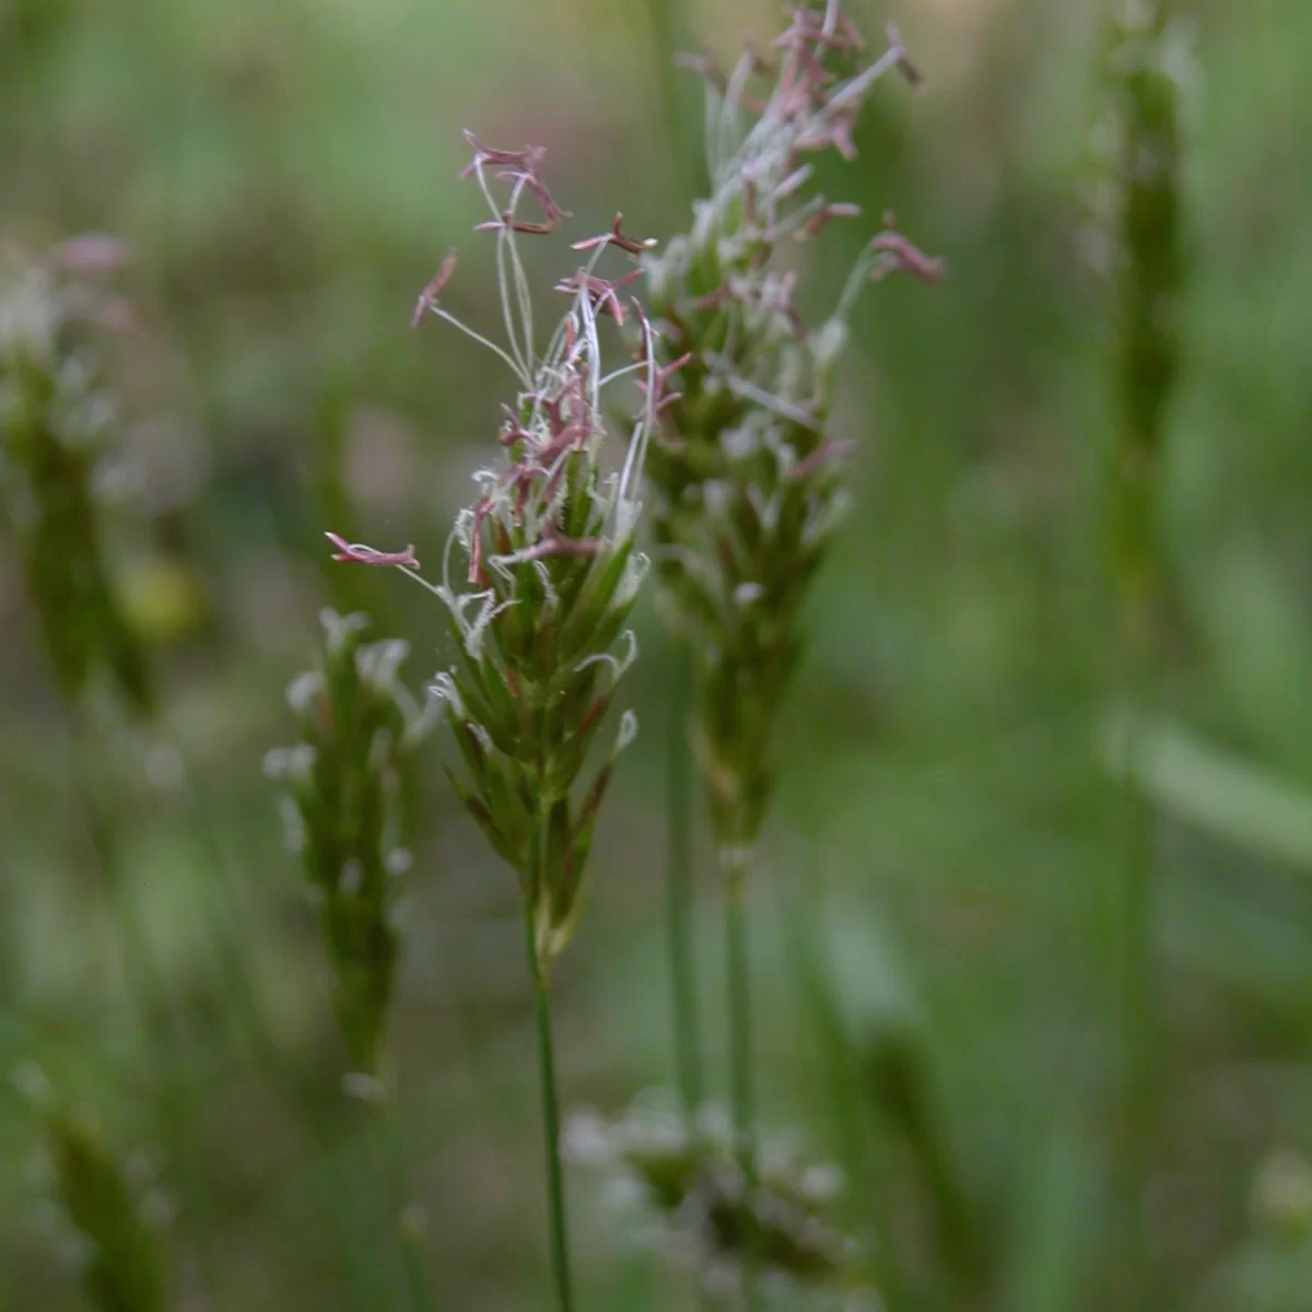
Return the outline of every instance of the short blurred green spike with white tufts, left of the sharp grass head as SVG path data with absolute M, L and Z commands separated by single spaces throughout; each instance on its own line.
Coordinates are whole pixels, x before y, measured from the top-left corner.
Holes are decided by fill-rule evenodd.
M 366 643 L 363 615 L 323 613 L 315 668 L 287 699 L 299 722 L 266 771 L 287 787 L 291 845 L 320 908 L 333 1002 L 356 1069 L 378 1076 L 396 968 L 394 905 L 409 867 L 408 775 L 425 716 L 398 677 L 401 642 Z

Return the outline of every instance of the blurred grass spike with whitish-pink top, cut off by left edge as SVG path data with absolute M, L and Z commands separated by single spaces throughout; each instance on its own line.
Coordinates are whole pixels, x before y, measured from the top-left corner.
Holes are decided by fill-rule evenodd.
M 104 669 L 144 711 L 146 655 L 104 543 L 114 407 L 81 333 L 125 324 L 123 303 L 96 282 L 125 258 L 109 237 L 75 239 L 37 262 L 0 251 L 0 504 L 62 693 L 76 699 Z

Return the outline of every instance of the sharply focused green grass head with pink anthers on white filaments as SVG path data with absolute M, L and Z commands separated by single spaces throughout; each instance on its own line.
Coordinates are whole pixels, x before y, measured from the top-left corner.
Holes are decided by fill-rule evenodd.
M 467 136 L 474 159 L 466 172 L 492 215 L 478 231 L 496 239 L 505 344 L 467 328 L 441 304 L 454 253 L 420 295 L 416 323 L 436 315 L 482 342 L 510 370 L 516 391 L 501 407 L 499 458 L 475 474 L 476 496 L 447 539 L 441 580 L 425 584 L 446 611 L 455 656 L 433 693 L 446 706 L 463 765 L 451 771 L 453 782 L 518 874 L 538 955 L 548 960 L 569 937 L 597 812 L 636 731 L 626 711 L 605 760 L 584 779 L 636 655 L 626 622 L 647 572 L 636 533 L 663 379 L 656 333 L 626 295 L 640 269 L 631 262 L 618 278 L 598 273 L 611 248 L 630 257 L 647 249 L 618 218 L 609 232 L 577 244 L 588 261 L 556 283 L 568 308 L 539 349 L 518 243 L 554 232 L 565 214 L 542 180 L 541 150 L 496 150 Z M 495 194 L 500 186 L 504 199 Z M 607 371 L 604 319 L 636 332 L 635 362 Z M 647 400 L 627 447 L 611 461 L 602 394 L 634 375 L 647 380 Z M 420 579 L 412 552 L 341 546 L 340 558 L 395 564 Z

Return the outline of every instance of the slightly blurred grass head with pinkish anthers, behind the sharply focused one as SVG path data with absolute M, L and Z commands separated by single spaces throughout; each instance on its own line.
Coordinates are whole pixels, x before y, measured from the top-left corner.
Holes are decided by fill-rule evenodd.
M 771 55 L 749 49 L 728 77 L 693 60 L 707 81 L 712 194 L 695 203 L 690 232 L 646 257 L 668 344 L 651 454 L 655 534 L 666 611 L 698 655 L 695 747 L 722 845 L 750 842 L 760 828 L 800 607 L 848 504 L 849 445 L 830 436 L 828 415 L 849 311 L 867 281 L 945 273 L 887 216 L 833 314 L 808 328 L 796 272 L 775 256 L 861 213 L 813 192 L 808 157 L 850 159 L 874 84 L 893 70 L 920 73 L 892 29 L 866 63 L 836 0 L 794 9 Z

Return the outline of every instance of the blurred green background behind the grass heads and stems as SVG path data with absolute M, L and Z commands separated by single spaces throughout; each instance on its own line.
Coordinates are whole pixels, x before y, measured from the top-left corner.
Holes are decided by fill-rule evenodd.
M 867 34 L 896 20 L 928 81 L 879 88 L 859 160 L 827 163 L 824 189 L 871 220 L 896 210 L 951 278 L 870 289 L 857 311 L 836 419 L 859 443 L 855 512 L 813 598 L 753 904 L 762 1118 L 846 1152 L 804 987 L 819 962 L 875 1031 L 924 1043 L 922 1094 L 983 1218 L 987 1295 L 970 1305 L 1019 1312 L 1114 1305 L 1099 1273 L 1118 1242 L 1109 908 L 1126 799 L 1099 750 L 1119 657 L 1106 291 L 1085 258 L 1101 8 L 849 5 Z M 747 0 L 687 9 L 682 41 L 724 52 L 777 21 Z M 1170 727 L 1141 781 L 1162 1006 L 1147 1237 L 1158 1307 L 1295 1312 L 1312 1307 L 1312 8 L 1197 0 L 1191 18 L 1162 504 Z M 415 542 L 436 563 L 508 395 L 492 357 L 437 323 L 407 327 L 453 244 L 447 303 L 496 323 L 459 130 L 544 144 L 575 239 L 617 209 L 638 235 L 678 231 L 690 173 L 656 30 L 642 0 L 0 0 L 0 235 L 42 249 L 108 231 L 136 252 L 123 290 L 140 323 L 110 348 L 136 512 L 115 543 L 165 728 L 142 741 L 109 714 L 85 750 L 176 1040 L 161 1067 L 0 539 L 0 1065 L 38 1061 L 125 1157 L 169 1144 L 157 1210 L 173 1212 L 189 1308 L 348 1307 L 353 1263 L 373 1305 L 401 1305 L 261 760 L 291 732 L 283 686 L 321 606 L 367 609 L 407 638 L 416 689 L 437 665 L 436 602 L 400 576 L 332 567 L 323 530 Z M 701 89 L 678 77 L 686 131 Z M 834 226 L 815 253 L 813 307 L 866 228 Z M 543 279 L 571 268 L 560 247 L 531 255 Z M 565 1102 L 607 1111 L 670 1078 L 669 646 L 649 604 L 640 640 L 643 733 L 555 980 Z M 440 750 L 391 1027 L 426 1258 L 442 1307 L 546 1307 L 517 896 L 458 813 Z M 718 901 L 702 883 L 718 1040 Z M 241 1008 L 237 975 L 253 981 Z M 316 1134 L 270 1093 L 252 1010 L 319 1101 Z M 720 1089 L 723 1043 L 711 1056 Z M 871 1098 L 858 1119 L 859 1193 L 886 1240 L 933 1267 L 896 1118 Z M 33 1148 L 5 1086 L 0 1304 L 81 1307 Z M 625 1242 L 586 1173 L 569 1185 L 585 1307 L 693 1305 L 686 1274 Z

